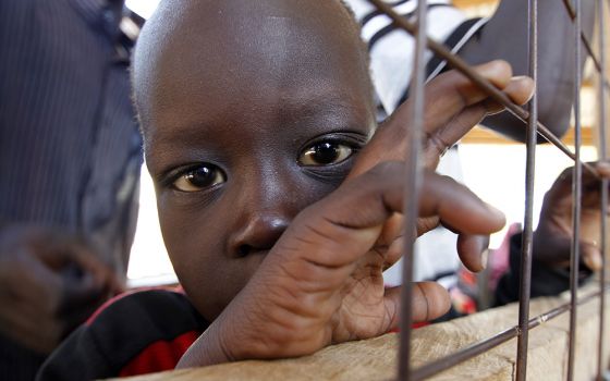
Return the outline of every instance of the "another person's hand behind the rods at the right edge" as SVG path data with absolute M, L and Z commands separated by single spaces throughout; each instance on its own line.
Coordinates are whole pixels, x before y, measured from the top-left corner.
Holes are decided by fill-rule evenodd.
M 610 179 L 610 163 L 591 163 L 602 179 Z M 558 267 L 570 266 L 572 247 L 572 172 L 564 170 L 545 195 L 538 228 L 534 233 L 534 259 Z M 601 182 L 583 169 L 581 201 L 581 258 L 590 270 L 601 269 Z

